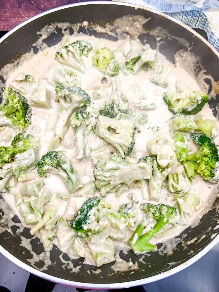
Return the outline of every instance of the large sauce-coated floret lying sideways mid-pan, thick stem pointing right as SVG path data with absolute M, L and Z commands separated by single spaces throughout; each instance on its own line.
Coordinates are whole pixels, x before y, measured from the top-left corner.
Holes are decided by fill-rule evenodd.
M 149 163 L 133 164 L 118 157 L 112 157 L 111 160 L 98 161 L 93 174 L 96 188 L 104 196 L 121 183 L 131 185 L 136 180 L 149 179 L 152 175 L 152 167 Z

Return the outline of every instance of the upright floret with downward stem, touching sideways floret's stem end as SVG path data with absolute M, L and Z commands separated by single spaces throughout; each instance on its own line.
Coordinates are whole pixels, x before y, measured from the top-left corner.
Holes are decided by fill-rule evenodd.
M 149 192 L 150 192 L 150 199 L 158 201 L 160 199 L 160 192 L 164 180 L 166 179 L 167 175 L 171 172 L 170 168 L 162 168 L 157 163 L 156 156 L 147 156 L 141 158 L 139 162 L 148 162 L 151 164 L 153 168 L 153 173 L 151 178 L 148 181 L 149 184 Z

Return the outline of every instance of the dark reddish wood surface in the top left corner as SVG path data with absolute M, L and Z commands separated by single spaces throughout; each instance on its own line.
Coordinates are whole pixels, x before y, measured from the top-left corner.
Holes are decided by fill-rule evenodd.
M 10 30 L 51 8 L 88 0 L 0 0 L 0 30 Z

